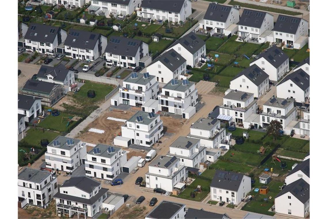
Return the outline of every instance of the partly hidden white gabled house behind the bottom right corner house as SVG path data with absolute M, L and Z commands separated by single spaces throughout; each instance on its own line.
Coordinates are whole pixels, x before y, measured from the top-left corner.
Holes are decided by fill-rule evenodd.
M 303 179 L 310 184 L 310 159 L 297 164 L 286 176 L 285 183 L 289 185 L 298 179 Z

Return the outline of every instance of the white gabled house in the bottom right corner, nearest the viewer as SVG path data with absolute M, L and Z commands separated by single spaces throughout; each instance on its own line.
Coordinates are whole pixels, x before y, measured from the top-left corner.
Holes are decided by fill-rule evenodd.
M 303 179 L 287 185 L 275 198 L 276 213 L 307 217 L 310 213 L 310 185 Z

